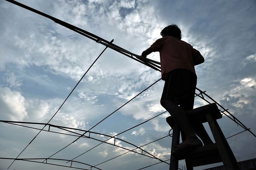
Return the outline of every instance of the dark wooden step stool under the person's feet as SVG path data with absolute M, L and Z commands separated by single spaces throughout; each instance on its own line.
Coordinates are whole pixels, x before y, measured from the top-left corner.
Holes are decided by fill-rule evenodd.
M 217 105 L 212 103 L 193 110 L 188 110 L 185 113 L 190 121 L 196 121 L 197 123 L 208 122 L 215 143 L 197 147 L 193 151 L 179 157 L 175 157 L 171 154 L 170 170 L 178 170 L 179 160 L 185 160 L 187 170 L 193 170 L 193 167 L 196 166 L 219 162 L 223 162 L 226 170 L 239 170 L 236 158 L 216 121 L 216 119 L 222 117 Z M 173 129 L 172 152 L 175 146 L 179 145 L 181 131 L 178 124 L 172 119 L 172 116 L 167 117 L 166 121 Z M 183 133 L 181 134 L 182 139 L 184 139 Z

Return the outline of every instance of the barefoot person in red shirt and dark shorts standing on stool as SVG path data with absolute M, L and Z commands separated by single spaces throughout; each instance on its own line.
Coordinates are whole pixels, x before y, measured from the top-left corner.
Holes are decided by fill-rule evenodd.
M 185 135 L 185 140 L 172 152 L 176 156 L 213 143 L 203 124 L 194 124 L 185 114 L 194 105 L 197 83 L 194 66 L 203 63 L 204 58 L 193 46 L 181 40 L 181 30 L 177 25 L 165 27 L 160 34 L 162 38 L 143 51 L 140 59 L 145 60 L 152 52 L 160 52 L 161 78 L 165 81 L 160 103 Z

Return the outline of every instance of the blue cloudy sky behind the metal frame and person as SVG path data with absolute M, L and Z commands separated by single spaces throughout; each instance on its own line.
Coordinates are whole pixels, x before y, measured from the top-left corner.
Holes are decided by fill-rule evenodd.
M 200 51 L 205 63 L 196 66 L 197 88 L 206 91 L 256 133 L 256 2 L 203 0 L 19 0 L 140 55 L 170 24 L 181 28 L 182 40 Z M 48 18 L 0 1 L 0 119 L 47 123 L 105 46 L 69 30 Z M 160 61 L 159 53 L 148 56 Z M 155 71 L 118 52 L 107 49 L 84 76 L 50 124 L 89 130 L 110 113 L 160 79 Z M 130 103 L 92 128 L 95 139 L 106 140 L 163 113 L 159 81 Z M 195 98 L 194 108 L 207 104 Z M 170 130 L 169 113 L 117 135 L 116 145 L 134 149 Z M 218 120 L 224 136 L 244 129 L 223 115 Z M 24 124 L 23 124 L 24 125 Z M 204 124 L 209 132 L 209 126 Z M 41 129 L 43 125 L 29 125 Z M 0 157 L 16 158 L 39 130 L 0 122 Z M 46 128 L 48 130 L 48 127 Z M 75 139 L 57 128 L 42 131 L 18 158 L 47 158 Z M 74 131 L 82 133 L 81 131 Z M 212 136 L 211 136 L 212 138 Z M 120 140 L 122 139 L 122 140 Z M 171 137 L 143 146 L 161 160 L 170 159 Z M 109 140 L 114 143 L 114 140 Z M 128 142 L 128 143 L 127 143 Z M 248 131 L 227 139 L 237 161 L 256 158 L 256 138 Z M 71 160 L 100 142 L 80 138 L 52 158 Z M 75 161 L 95 166 L 125 152 L 101 144 Z M 99 169 L 140 169 L 160 161 L 129 152 L 97 166 Z M 12 160 L 0 159 L 0 170 Z M 65 161 L 49 161 L 68 165 Z M 180 167 L 184 161 L 179 162 Z M 221 164 L 197 167 L 215 167 Z M 78 163 L 72 166 L 90 169 Z M 41 163 L 15 161 L 10 169 L 71 169 Z M 92 168 L 95 169 L 95 168 Z M 169 169 L 159 163 L 148 170 Z

